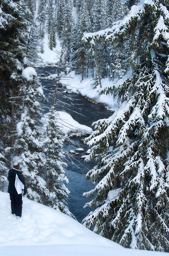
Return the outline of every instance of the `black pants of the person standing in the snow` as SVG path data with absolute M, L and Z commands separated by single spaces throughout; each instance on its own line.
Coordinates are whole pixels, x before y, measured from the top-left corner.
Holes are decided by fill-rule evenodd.
M 12 195 L 10 194 L 11 199 L 11 210 L 12 214 L 15 213 L 17 216 L 22 215 L 22 194 Z

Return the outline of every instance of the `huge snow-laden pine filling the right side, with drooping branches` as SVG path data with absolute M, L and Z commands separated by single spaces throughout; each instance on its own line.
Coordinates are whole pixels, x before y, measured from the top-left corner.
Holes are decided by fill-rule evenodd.
M 84 225 L 127 248 L 168 252 L 169 248 L 169 5 L 136 3 L 111 29 L 94 33 L 118 42 L 131 37 L 128 63 L 133 75 L 106 90 L 123 103 L 99 120 L 86 142 L 87 161 L 98 164 L 87 178 L 96 187 L 84 193 L 94 207 Z

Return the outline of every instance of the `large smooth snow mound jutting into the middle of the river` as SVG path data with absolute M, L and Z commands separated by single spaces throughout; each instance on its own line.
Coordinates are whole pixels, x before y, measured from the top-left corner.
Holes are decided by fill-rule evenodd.
M 45 114 L 42 117 L 42 122 L 48 124 L 49 122 L 49 113 Z M 83 133 L 91 133 L 92 128 L 79 124 L 77 121 L 73 119 L 71 115 L 64 111 L 57 111 L 56 113 L 57 124 L 59 126 L 59 133 L 67 134 L 69 132 L 83 132 Z

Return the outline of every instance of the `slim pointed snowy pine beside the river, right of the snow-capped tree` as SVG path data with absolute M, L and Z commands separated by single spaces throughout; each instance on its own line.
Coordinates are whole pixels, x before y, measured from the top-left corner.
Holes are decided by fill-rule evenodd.
M 66 207 L 66 198 L 68 198 L 70 192 L 63 182 L 68 183 L 69 181 L 64 171 L 64 165 L 66 164 L 61 160 L 63 158 L 63 140 L 62 136 L 58 134 L 58 113 L 54 106 L 51 107 L 46 119 L 43 127 L 46 134 L 43 140 L 42 153 L 45 155 L 43 177 L 47 189 L 44 190 L 43 203 L 72 216 Z

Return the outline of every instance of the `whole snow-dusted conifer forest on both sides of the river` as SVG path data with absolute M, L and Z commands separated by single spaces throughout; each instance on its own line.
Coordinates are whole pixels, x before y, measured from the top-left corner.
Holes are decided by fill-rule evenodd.
M 59 56 L 46 123 L 35 71 L 45 37 Z M 169 1 L 0 0 L 0 190 L 18 161 L 27 198 L 69 216 L 56 99 L 71 71 L 118 103 L 84 140 L 96 164 L 82 224 L 125 248 L 169 252 Z

